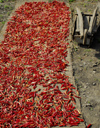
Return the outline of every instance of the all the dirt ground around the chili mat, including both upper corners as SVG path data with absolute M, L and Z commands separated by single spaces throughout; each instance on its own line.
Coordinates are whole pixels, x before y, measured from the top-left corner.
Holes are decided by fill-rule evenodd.
M 0 30 L 15 2 L 16 0 L 0 0 Z M 98 0 L 76 0 L 70 6 L 71 10 L 78 6 L 83 12 L 93 13 L 97 3 Z M 82 115 L 86 125 L 92 124 L 91 128 L 100 128 L 100 28 L 90 48 L 79 45 L 76 41 L 72 43 L 73 75 L 81 97 Z

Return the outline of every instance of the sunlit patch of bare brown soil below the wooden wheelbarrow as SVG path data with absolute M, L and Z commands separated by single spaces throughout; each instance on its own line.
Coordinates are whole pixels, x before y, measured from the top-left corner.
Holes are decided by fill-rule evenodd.
M 73 45 L 73 75 L 86 124 L 100 128 L 100 28 L 91 48 Z

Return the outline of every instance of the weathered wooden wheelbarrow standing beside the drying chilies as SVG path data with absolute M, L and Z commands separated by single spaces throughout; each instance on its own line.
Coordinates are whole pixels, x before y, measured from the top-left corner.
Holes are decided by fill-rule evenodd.
M 95 8 L 93 14 L 84 14 L 78 7 L 76 7 L 76 11 L 71 28 L 72 39 L 78 39 L 79 43 L 90 46 L 100 25 L 97 23 L 98 7 Z

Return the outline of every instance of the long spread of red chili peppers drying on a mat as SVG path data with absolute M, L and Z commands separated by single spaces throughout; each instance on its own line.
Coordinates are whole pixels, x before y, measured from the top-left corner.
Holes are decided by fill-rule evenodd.
M 26 2 L 0 44 L 0 127 L 77 126 L 75 87 L 65 75 L 69 7 Z

